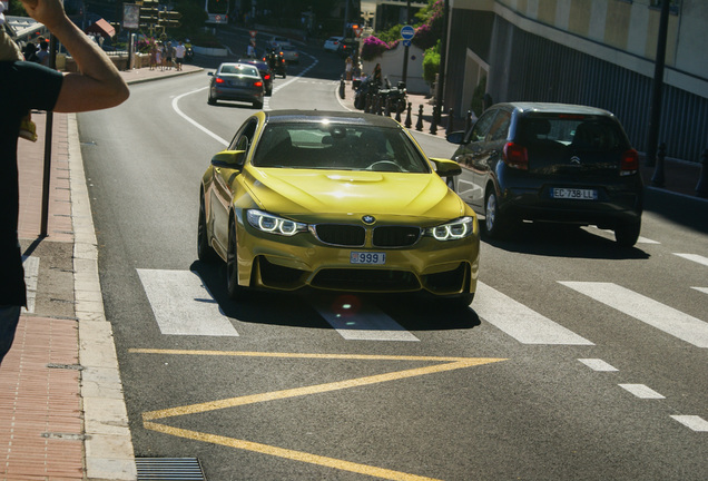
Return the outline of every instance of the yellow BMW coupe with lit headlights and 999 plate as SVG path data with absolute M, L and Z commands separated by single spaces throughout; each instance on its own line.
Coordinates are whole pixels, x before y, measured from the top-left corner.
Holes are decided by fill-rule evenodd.
M 198 257 L 226 262 L 235 300 L 309 286 L 421 292 L 466 306 L 480 232 L 448 187 L 460 173 L 429 159 L 389 117 L 260 111 L 201 178 Z

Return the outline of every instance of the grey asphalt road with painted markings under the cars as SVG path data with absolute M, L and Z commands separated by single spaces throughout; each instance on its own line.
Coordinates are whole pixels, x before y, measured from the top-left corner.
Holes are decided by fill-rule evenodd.
M 338 59 L 305 52 L 266 109 L 342 108 Z M 632 249 L 594 228 L 484 239 L 469 310 L 235 304 L 224 268 L 197 261 L 198 188 L 253 110 L 208 106 L 207 79 L 136 85 L 79 116 L 136 455 L 198 458 L 218 481 L 705 479 L 704 207 L 649 193 Z M 416 136 L 430 156 L 454 149 Z

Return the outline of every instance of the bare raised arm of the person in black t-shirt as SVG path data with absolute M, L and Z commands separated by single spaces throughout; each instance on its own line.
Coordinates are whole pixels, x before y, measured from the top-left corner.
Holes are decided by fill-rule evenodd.
M 27 13 L 63 43 L 78 72 L 67 73 L 55 111 L 87 111 L 125 101 L 128 86 L 108 56 L 66 16 L 59 0 L 21 0 Z

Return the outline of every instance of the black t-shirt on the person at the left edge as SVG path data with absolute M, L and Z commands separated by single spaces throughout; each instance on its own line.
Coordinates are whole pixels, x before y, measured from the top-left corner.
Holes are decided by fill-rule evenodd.
M 55 108 L 63 76 L 33 62 L 0 61 L 0 305 L 26 305 L 17 235 L 20 121 L 31 109 Z

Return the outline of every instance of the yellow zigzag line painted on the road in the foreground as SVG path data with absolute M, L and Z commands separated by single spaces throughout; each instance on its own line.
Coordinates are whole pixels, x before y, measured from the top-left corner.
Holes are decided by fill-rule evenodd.
M 250 441 L 237 440 L 233 438 L 220 436 L 216 434 L 200 433 L 197 431 L 183 430 L 165 424 L 153 422 L 158 419 L 174 418 L 186 414 L 195 414 L 209 412 L 226 408 L 235 408 L 246 404 L 254 404 L 265 401 L 283 400 L 288 397 L 304 396 L 309 394 L 318 394 L 332 391 L 338 391 L 350 387 L 358 387 L 364 385 L 377 384 L 387 381 L 395 381 L 406 377 L 414 377 L 425 374 L 441 373 L 464 367 L 472 367 L 482 364 L 490 364 L 505 359 L 496 357 L 435 357 L 435 356 L 394 356 L 394 355 L 360 355 L 360 354 L 302 354 L 302 353 L 262 353 L 262 352 L 239 352 L 239 351 L 186 351 L 186 350 L 144 350 L 131 349 L 130 353 L 135 354 L 164 354 L 164 355 L 213 355 L 213 356 L 249 356 L 249 357 L 283 357 L 283 359 L 322 359 L 322 360 L 362 360 L 362 361 L 420 361 L 420 362 L 437 362 L 426 367 L 410 369 L 396 371 L 385 374 L 357 377 L 345 381 L 337 381 L 312 386 L 295 387 L 289 390 L 273 391 L 262 394 L 252 394 L 238 397 L 230 397 L 219 401 L 190 404 L 186 406 L 171 408 L 166 410 L 149 411 L 142 413 L 142 424 L 146 429 L 170 434 L 178 438 L 186 438 L 195 441 L 203 441 L 213 444 L 220 444 L 242 449 L 246 451 L 258 452 L 262 454 L 275 455 L 294 461 L 302 461 L 322 467 L 334 468 L 343 471 L 351 471 L 371 477 L 402 480 L 402 481 L 422 481 L 433 480 L 432 478 L 407 474 L 399 471 L 392 471 L 383 468 L 358 464 L 350 461 L 337 460 L 333 458 L 309 454 L 302 451 L 293 451 L 283 448 L 276 448 L 267 444 L 255 443 Z

